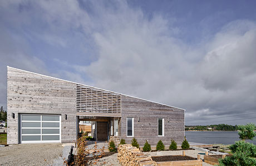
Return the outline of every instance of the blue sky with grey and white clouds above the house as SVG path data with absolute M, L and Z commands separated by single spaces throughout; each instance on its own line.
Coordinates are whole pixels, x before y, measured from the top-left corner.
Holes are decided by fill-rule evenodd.
M 6 66 L 185 108 L 186 125 L 256 122 L 255 1 L 0 1 Z

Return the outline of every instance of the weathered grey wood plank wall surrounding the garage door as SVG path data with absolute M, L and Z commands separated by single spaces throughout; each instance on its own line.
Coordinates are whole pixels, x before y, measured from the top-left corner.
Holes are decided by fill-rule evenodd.
M 7 110 L 8 144 L 18 143 L 18 113 L 61 115 L 61 142 L 76 141 L 76 84 L 8 67 Z

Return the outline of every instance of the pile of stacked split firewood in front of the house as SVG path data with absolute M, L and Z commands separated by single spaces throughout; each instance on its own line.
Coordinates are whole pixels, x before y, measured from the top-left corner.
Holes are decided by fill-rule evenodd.
M 132 147 L 131 144 L 120 144 L 117 159 L 122 166 L 157 165 L 151 157 L 147 157 L 138 148 Z

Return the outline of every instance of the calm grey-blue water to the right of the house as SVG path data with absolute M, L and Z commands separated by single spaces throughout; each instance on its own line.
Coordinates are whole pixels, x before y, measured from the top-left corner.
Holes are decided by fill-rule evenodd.
M 240 140 L 237 131 L 185 131 L 185 136 L 189 142 L 207 144 L 234 144 Z M 256 144 L 256 137 L 247 141 Z

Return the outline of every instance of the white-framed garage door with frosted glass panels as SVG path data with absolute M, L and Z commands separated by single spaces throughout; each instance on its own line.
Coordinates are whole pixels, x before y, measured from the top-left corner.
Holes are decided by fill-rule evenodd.
M 60 115 L 21 115 L 21 143 L 61 142 Z

